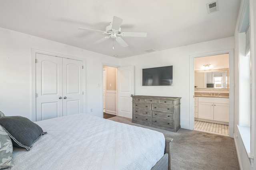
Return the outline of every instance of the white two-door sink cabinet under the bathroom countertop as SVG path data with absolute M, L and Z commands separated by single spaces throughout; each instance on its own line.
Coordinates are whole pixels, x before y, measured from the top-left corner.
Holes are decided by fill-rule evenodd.
M 198 118 L 229 122 L 229 99 L 198 97 Z

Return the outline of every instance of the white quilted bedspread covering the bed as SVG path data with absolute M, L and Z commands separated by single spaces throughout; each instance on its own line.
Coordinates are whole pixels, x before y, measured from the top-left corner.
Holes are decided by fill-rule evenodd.
M 47 131 L 30 151 L 14 147 L 12 170 L 150 170 L 162 133 L 88 114 L 36 122 Z

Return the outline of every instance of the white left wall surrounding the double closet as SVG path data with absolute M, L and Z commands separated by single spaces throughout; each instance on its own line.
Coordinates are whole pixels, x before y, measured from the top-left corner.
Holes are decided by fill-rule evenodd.
M 86 112 L 102 116 L 102 63 L 118 59 L 1 27 L 0 111 L 32 119 L 31 49 L 85 59 Z

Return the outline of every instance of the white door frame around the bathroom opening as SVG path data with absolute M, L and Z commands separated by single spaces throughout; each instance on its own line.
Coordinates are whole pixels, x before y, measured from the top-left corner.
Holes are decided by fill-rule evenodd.
M 189 55 L 189 129 L 194 129 L 194 58 L 229 54 L 229 137 L 234 138 L 234 49 Z

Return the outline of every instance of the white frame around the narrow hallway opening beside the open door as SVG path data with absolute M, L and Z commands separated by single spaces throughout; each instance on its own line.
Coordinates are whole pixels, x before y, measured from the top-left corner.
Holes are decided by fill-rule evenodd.
M 109 64 L 109 63 L 101 63 L 101 84 L 103 84 L 103 66 L 109 66 L 116 68 L 116 88 L 118 88 L 118 71 L 117 68 L 120 67 L 118 65 Z M 101 87 L 101 117 L 103 117 L 103 86 Z M 118 90 L 116 90 L 116 116 L 118 116 Z

